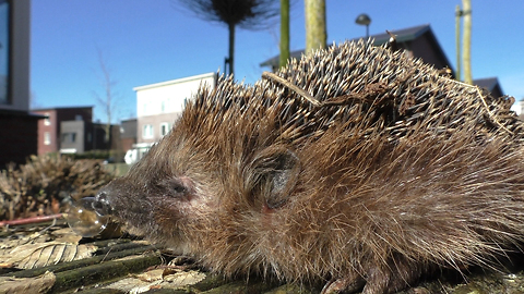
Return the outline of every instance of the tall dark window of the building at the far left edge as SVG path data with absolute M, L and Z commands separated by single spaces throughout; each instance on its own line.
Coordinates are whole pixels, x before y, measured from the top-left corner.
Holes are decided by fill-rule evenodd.
M 0 105 L 9 103 L 10 1 L 0 1 Z

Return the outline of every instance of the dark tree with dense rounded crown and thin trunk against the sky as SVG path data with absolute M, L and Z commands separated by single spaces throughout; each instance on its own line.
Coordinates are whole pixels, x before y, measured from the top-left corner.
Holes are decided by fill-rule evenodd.
M 229 30 L 229 74 L 234 73 L 235 28 L 262 29 L 267 21 L 278 15 L 275 0 L 178 0 L 196 16 L 227 25 Z

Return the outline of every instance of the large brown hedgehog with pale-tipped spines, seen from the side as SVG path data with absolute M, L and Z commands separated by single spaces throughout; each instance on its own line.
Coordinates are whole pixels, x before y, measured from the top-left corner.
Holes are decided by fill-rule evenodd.
M 343 42 L 252 85 L 201 87 L 93 208 L 224 277 L 395 293 L 519 250 L 512 101 L 407 52 Z

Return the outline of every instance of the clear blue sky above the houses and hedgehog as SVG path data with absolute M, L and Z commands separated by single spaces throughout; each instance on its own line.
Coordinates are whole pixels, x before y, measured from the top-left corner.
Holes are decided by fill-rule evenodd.
M 276 0 L 275 0 L 276 1 Z M 524 1 L 472 0 L 473 77 L 497 76 L 502 90 L 524 98 Z M 370 34 L 430 24 L 455 66 L 455 7 L 460 0 L 326 0 L 327 40 L 360 37 L 355 24 L 370 15 Z M 264 60 L 278 54 L 278 20 L 264 30 L 237 29 L 235 77 L 254 83 Z M 305 48 L 303 1 L 291 8 L 291 50 Z M 198 19 L 176 0 L 33 0 L 31 85 L 33 107 L 95 106 L 103 93 L 99 49 L 116 85 L 117 119 L 135 117 L 133 87 L 224 66 L 227 29 Z

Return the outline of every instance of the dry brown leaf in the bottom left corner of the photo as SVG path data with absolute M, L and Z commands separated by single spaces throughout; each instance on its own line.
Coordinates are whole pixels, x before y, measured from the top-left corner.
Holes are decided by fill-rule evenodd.
M 55 274 L 49 271 L 46 271 L 46 273 L 43 275 L 35 278 L 16 279 L 10 277 L 0 277 L 0 293 L 47 293 L 55 284 Z

